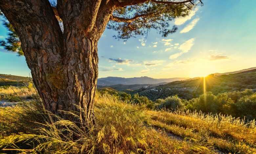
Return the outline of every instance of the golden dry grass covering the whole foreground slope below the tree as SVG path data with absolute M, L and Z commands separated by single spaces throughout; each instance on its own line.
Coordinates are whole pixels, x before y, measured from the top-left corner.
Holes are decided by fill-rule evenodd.
M 256 153 L 255 121 L 150 110 L 109 94 L 96 95 L 95 112 L 97 125 L 85 129 L 61 118 L 53 122 L 36 100 L 0 108 L 0 148 L 6 153 Z

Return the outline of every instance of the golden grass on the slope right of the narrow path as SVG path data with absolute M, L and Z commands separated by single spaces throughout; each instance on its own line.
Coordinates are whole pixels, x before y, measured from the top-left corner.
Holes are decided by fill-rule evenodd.
M 146 111 L 148 123 L 167 132 L 201 141 L 232 153 L 256 153 L 255 121 L 245 123 L 230 116 L 197 112 Z

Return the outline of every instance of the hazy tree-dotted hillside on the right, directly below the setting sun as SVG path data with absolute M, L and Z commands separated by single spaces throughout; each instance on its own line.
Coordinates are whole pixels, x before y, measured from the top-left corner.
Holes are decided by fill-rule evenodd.
M 189 100 L 203 94 L 203 87 L 204 79 L 201 77 L 194 80 L 174 81 L 154 87 L 158 91 L 141 88 L 129 93 L 139 93 L 139 95 L 146 96 L 153 101 L 176 94 L 183 99 Z M 229 75 L 211 74 L 205 77 L 205 89 L 206 91 L 212 91 L 214 94 L 243 89 L 256 90 L 256 69 Z

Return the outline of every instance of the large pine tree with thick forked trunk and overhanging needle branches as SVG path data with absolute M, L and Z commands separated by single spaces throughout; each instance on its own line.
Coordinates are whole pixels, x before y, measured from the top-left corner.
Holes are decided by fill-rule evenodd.
M 203 5 L 201 0 L 57 0 L 55 8 L 48 0 L 0 1 L 45 108 L 71 120 L 60 110 L 78 111 L 89 123 L 94 123 L 97 42 L 105 27 L 117 30 L 118 39 L 150 29 L 167 36 L 177 30 L 169 29 L 168 22 L 198 5 Z

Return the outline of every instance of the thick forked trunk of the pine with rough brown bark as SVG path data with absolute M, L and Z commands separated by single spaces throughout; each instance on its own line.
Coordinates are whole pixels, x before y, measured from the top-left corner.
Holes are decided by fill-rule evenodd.
M 105 3 L 103 7 L 100 0 L 58 0 L 62 33 L 48 0 L 0 1 L 0 9 L 22 42 L 45 108 L 64 119 L 74 117 L 59 110 L 78 111 L 80 120 L 93 123 L 97 42 L 113 11 Z

